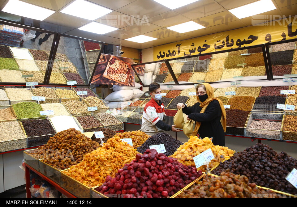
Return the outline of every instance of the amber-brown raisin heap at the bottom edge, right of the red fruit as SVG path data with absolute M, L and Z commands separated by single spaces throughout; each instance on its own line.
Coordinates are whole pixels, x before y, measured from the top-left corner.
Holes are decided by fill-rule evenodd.
M 263 196 L 260 194 L 263 194 Z M 205 175 L 203 180 L 196 181 L 191 188 L 183 190 L 177 197 L 256 198 L 277 197 L 277 194 L 271 190 L 265 191 L 262 188 L 259 189 L 255 183 L 250 183 L 245 175 L 234 175 L 230 173 L 230 170 L 227 170 L 222 172 L 219 177 Z

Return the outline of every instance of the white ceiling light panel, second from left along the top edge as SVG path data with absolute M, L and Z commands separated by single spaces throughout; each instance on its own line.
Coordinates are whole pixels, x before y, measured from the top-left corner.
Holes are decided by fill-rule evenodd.
M 62 9 L 61 12 L 88 20 L 95 20 L 112 12 L 112 10 L 84 0 L 76 0 Z

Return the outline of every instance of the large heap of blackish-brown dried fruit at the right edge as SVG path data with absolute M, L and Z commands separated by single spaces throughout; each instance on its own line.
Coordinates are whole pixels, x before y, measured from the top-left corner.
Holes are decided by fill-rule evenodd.
M 277 153 L 268 145 L 257 143 L 220 163 L 212 173 L 220 175 L 230 169 L 231 173 L 245 175 L 250 182 L 262 187 L 296 194 L 297 189 L 285 178 L 294 167 L 297 160 L 286 152 Z

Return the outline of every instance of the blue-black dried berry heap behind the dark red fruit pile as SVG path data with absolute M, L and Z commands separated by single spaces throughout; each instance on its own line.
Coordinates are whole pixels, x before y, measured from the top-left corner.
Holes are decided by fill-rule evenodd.
M 137 151 L 143 154 L 145 150 L 149 149 L 149 146 L 161 144 L 164 144 L 166 149 L 166 152 L 163 154 L 165 154 L 166 156 L 170 156 L 174 154 L 174 152 L 177 150 L 177 148 L 179 148 L 179 146 L 183 144 L 183 142 L 174 139 L 169 134 L 157 133 L 156 135 L 149 137 L 142 146 L 137 148 Z

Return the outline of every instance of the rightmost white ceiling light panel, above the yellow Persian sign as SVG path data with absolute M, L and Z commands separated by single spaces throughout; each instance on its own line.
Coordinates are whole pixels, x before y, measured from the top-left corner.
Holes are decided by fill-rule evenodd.
M 266 11 L 271 11 L 276 9 L 271 0 L 260 0 L 254 3 L 250 3 L 244 6 L 237 7 L 235 9 L 230 9 L 234 16 L 238 19 L 249 17 L 252 15 L 258 15 Z

